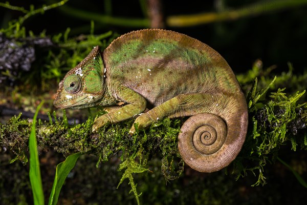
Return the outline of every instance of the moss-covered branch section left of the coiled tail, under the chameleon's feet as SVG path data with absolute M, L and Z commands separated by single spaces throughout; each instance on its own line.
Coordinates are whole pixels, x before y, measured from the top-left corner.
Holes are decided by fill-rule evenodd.
M 99 133 L 92 133 L 92 117 L 82 124 L 70 126 L 65 113 L 63 116 L 63 120 L 58 121 L 54 112 L 55 123 L 53 123 L 49 115 L 49 125 L 47 122 L 42 123 L 38 120 L 36 127 L 38 147 L 52 147 L 63 154 L 77 152 L 93 154 L 99 158 L 97 163 L 107 161 L 120 151 L 123 156 L 130 159 L 136 157 L 148 159 L 149 156 L 157 153 L 168 158 L 180 157 L 177 137 L 182 122 L 179 119 L 163 119 L 152 125 L 146 132 L 141 131 L 131 136 L 129 129 L 133 125 L 133 119 L 103 127 Z M 31 132 L 31 123 L 20 117 L 21 113 L 12 117 L 5 125 L 0 124 L 0 151 L 1 149 L 11 150 L 16 155 L 13 161 L 17 159 L 25 161 L 25 151 L 28 150 L 28 138 Z M 174 168 L 170 168 L 172 169 Z M 171 176 L 171 172 L 165 175 L 174 177 Z

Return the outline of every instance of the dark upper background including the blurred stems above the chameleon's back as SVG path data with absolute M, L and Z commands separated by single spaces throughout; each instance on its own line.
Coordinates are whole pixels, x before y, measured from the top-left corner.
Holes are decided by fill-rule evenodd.
M 29 10 L 28 2 L 9 2 Z M 51 3 L 31 1 L 35 8 Z M 109 30 L 123 34 L 158 26 L 185 33 L 210 45 L 236 72 L 248 70 L 257 58 L 264 61 L 265 67 L 277 65 L 278 70 L 287 70 L 287 61 L 290 61 L 300 70 L 306 66 L 303 60 L 307 49 L 304 46 L 307 33 L 305 5 L 304 0 L 216 0 L 184 4 L 157 0 L 69 1 L 56 9 L 29 17 L 23 26 L 36 35 L 45 31 L 49 36 L 64 33 L 68 27 L 70 36 L 89 34 L 91 20 L 95 22 L 95 34 Z M 176 22 L 195 14 L 201 15 L 195 19 L 203 19 L 203 16 L 205 19 L 196 25 L 193 18 L 184 26 Z M 221 19 L 214 14 L 226 17 Z M 10 20 L 22 15 L 23 12 L 0 7 L 1 28 L 7 28 Z M 149 18 L 152 15 L 156 17 Z

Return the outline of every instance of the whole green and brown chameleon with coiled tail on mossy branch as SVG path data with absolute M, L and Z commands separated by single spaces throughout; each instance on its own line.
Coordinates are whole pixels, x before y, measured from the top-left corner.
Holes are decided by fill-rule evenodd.
M 188 35 L 143 29 L 99 46 L 59 83 L 54 106 L 102 106 L 92 131 L 136 118 L 130 129 L 146 129 L 168 117 L 189 118 L 178 135 L 185 163 L 199 172 L 227 167 L 243 147 L 247 103 L 226 60 Z

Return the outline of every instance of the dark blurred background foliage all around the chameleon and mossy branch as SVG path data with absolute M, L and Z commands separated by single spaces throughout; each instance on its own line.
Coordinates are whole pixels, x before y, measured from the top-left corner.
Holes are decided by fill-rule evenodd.
M 275 91 L 286 87 L 291 94 L 302 92 L 307 87 L 306 9 L 305 0 L 1 1 L 0 106 L 33 112 L 41 99 L 47 99 L 42 114 L 53 110 L 59 80 L 93 46 L 105 48 L 117 36 L 143 28 L 170 29 L 208 44 L 228 61 L 246 93 L 255 77 L 265 88 L 275 74 L 282 79 L 280 84 L 276 79 Z M 84 119 L 87 112 L 68 115 Z M 289 152 L 291 147 L 282 147 L 278 156 L 306 178 L 306 152 Z M 13 153 L 1 149 L 0 201 L 31 204 L 29 167 L 19 161 L 9 164 L 12 158 Z M 40 160 L 48 195 L 63 156 L 42 148 Z M 127 182 L 116 190 L 122 175 L 117 171 L 119 159 L 98 169 L 96 162 L 94 156 L 80 158 L 59 204 L 135 204 Z M 159 170 L 160 160 L 151 160 L 150 166 L 152 172 L 135 176 L 143 204 L 301 204 L 305 200 L 306 189 L 278 161 L 266 166 L 264 187 L 251 187 L 256 180 L 251 173 L 236 181 L 231 173 L 198 173 L 188 167 L 181 178 L 167 182 Z

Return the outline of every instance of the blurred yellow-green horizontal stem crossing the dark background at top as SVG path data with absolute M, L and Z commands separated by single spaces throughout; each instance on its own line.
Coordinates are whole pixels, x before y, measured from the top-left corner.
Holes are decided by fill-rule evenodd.
M 209 24 L 213 22 L 221 22 L 225 20 L 235 20 L 242 17 L 255 16 L 269 12 L 281 11 L 298 6 L 306 5 L 307 1 L 264 1 L 256 4 L 246 5 L 242 8 L 230 10 L 224 8 L 222 5 L 222 12 L 207 12 L 200 14 L 189 15 L 173 15 L 166 17 L 167 27 L 190 27 L 202 24 Z M 148 28 L 150 27 L 150 20 L 145 18 L 127 18 L 127 17 L 114 17 L 103 15 L 100 13 L 93 13 L 84 11 L 82 9 L 72 8 L 68 5 L 59 7 L 59 9 L 67 15 L 74 16 L 75 18 L 95 20 L 104 25 L 115 25 L 130 28 Z

